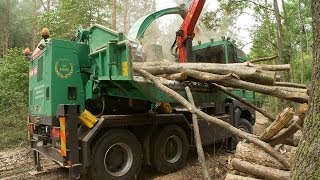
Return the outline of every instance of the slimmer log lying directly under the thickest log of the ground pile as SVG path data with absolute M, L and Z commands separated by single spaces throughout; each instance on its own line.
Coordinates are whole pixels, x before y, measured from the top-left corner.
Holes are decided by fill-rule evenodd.
M 233 158 L 231 161 L 234 170 L 254 175 L 263 179 L 285 180 L 290 179 L 290 171 L 283 171 L 270 167 L 261 166 L 247 161 L 242 161 L 238 158 Z

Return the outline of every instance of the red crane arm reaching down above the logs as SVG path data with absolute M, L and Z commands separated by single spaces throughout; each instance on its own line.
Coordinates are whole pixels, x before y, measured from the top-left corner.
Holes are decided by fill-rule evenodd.
M 185 63 L 190 58 L 192 51 L 192 39 L 194 37 L 194 28 L 197 24 L 203 6 L 206 0 L 193 0 L 189 11 L 177 32 L 177 46 L 179 52 L 179 62 Z

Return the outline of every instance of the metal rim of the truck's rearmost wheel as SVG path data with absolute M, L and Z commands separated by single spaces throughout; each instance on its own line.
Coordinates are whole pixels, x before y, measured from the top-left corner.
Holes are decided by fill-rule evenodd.
M 131 148 L 124 143 L 115 143 L 108 148 L 104 155 L 104 167 L 112 176 L 123 176 L 133 164 Z

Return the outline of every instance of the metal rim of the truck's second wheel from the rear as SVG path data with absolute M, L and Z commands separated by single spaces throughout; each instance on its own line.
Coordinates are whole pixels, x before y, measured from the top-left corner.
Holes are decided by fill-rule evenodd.
M 182 155 L 182 140 L 172 135 L 168 137 L 164 144 L 164 158 L 169 163 L 177 162 Z

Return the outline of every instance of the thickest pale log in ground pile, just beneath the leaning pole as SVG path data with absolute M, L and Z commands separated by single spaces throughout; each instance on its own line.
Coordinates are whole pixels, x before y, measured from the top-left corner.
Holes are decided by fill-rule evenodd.
M 275 169 L 287 170 L 278 160 L 270 156 L 263 149 L 253 145 L 252 143 L 245 143 L 240 141 L 237 145 L 235 158 L 242 159 L 244 161 L 252 162 L 262 166 L 267 166 Z

